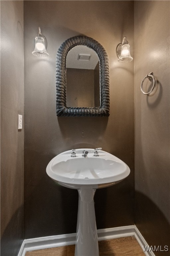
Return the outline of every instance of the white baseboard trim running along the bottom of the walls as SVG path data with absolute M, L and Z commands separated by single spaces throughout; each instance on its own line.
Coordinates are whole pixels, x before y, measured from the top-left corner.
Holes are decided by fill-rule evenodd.
M 117 228 L 98 229 L 97 234 L 99 241 L 120 237 L 135 236 L 142 250 L 143 246 L 148 246 L 145 239 L 143 238 L 143 236 L 141 235 L 141 233 L 139 232 L 135 225 Z M 26 252 L 28 251 L 73 245 L 75 244 L 75 241 L 76 233 L 25 239 L 22 243 L 18 256 L 25 256 Z M 155 256 L 152 251 L 144 253 L 146 256 Z

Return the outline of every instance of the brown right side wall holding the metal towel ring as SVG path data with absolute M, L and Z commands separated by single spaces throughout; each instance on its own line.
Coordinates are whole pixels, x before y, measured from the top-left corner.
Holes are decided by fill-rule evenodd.
M 170 250 L 170 2 L 135 1 L 135 224 L 151 246 Z M 140 83 L 158 80 L 150 96 Z M 144 89 L 147 82 L 144 82 Z M 169 252 L 155 252 L 169 255 Z

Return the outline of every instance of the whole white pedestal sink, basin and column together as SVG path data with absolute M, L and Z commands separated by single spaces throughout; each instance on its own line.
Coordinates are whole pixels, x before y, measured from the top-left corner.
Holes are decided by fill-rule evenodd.
M 46 167 L 54 182 L 78 190 L 75 256 L 99 256 L 95 191 L 124 180 L 130 173 L 129 167 L 116 156 L 103 150 L 94 152 L 91 148 L 68 150 L 55 156 Z

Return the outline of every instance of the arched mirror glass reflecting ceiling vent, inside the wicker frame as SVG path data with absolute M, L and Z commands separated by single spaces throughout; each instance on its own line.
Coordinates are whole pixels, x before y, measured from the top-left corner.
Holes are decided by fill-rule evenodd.
M 100 107 L 100 63 L 97 53 L 84 45 L 66 57 L 66 106 Z

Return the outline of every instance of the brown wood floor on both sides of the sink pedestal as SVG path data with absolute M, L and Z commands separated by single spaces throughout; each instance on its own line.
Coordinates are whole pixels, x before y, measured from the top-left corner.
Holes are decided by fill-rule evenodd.
M 26 252 L 26 256 L 74 256 L 75 245 Z M 99 241 L 100 256 L 145 256 L 135 237 Z

